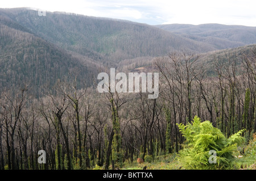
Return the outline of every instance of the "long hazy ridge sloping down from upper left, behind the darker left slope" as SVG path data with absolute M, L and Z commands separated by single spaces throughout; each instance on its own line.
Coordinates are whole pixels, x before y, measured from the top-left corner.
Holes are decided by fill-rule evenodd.
M 208 52 L 215 48 L 147 24 L 63 12 L 2 9 L 2 14 L 57 46 L 99 62 L 163 56 L 172 50 Z

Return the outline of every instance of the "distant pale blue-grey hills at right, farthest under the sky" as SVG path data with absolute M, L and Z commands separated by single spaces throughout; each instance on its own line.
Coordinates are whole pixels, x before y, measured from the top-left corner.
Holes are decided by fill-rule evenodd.
M 256 27 L 224 24 L 162 24 L 156 27 L 212 45 L 216 49 L 256 44 Z

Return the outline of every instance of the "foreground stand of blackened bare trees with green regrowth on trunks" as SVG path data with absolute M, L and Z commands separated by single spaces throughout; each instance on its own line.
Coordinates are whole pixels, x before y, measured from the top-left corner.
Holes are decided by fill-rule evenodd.
M 184 138 L 176 124 L 193 116 L 209 120 L 230 137 L 256 131 L 256 49 L 213 60 L 216 77 L 205 74 L 199 56 L 176 52 L 155 61 L 160 96 L 77 89 L 58 82 L 34 99 L 30 87 L 4 91 L 0 99 L 0 169 L 105 169 L 138 157 L 179 152 Z M 46 163 L 38 163 L 38 151 Z

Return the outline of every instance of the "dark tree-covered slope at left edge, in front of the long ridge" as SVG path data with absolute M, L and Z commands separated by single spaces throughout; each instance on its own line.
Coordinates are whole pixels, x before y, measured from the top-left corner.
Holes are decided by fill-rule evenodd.
M 87 78 L 86 82 L 92 84 L 96 66 L 90 64 L 89 58 L 78 58 L 26 32 L 12 20 L 1 16 L 0 19 L 0 92 L 26 83 L 32 95 L 40 96 L 43 88 L 48 89 L 58 79 L 75 76 L 76 73 L 79 73 L 78 82 L 82 83 Z

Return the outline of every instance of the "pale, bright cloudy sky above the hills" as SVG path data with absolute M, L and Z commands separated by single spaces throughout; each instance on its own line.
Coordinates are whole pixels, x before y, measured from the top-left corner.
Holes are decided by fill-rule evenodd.
M 0 0 L 0 8 L 32 7 L 156 24 L 237 24 L 256 27 L 255 0 Z

